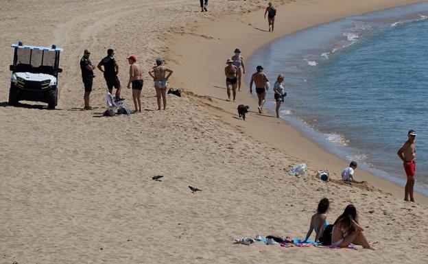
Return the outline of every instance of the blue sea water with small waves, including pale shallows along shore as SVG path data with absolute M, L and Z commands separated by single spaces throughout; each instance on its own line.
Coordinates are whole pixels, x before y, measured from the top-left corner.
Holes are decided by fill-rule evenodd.
M 285 74 L 283 119 L 330 152 L 402 185 L 396 151 L 416 130 L 418 191 L 427 195 L 427 18 L 424 2 L 311 27 L 259 49 L 248 73 L 261 64 L 272 84 Z M 266 106 L 274 110 L 272 91 Z

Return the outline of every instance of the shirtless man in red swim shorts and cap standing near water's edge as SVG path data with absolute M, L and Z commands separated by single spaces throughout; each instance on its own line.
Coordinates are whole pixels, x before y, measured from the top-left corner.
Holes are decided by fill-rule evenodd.
M 416 172 L 416 145 L 414 140 L 416 138 L 416 132 L 409 130 L 407 133 L 409 139 L 404 143 L 403 147 L 399 149 L 397 155 L 403 160 L 404 170 L 407 175 L 407 182 L 404 189 L 404 200 L 414 202 L 413 187 L 414 187 L 414 176 Z

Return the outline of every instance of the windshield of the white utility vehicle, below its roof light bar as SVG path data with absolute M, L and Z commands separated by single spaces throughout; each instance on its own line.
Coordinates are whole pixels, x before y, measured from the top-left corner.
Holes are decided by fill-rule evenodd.
M 31 56 L 30 56 L 31 53 Z M 18 49 L 16 64 L 31 64 L 32 67 L 55 66 L 55 55 L 53 51 L 40 51 L 36 49 Z M 31 57 L 31 61 L 30 61 Z

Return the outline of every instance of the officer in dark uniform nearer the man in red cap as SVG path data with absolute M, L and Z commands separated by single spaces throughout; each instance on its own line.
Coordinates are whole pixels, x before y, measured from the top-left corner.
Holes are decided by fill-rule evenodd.
M 106 79 L 106 84 L 108 88 L 108 92 L 112 94 L 113 87 L 116 88 L 116 101 L 121 101 L 123 99 L 120 98 L 120 82 L 117 77 L 117 73 L 119 72 L 119 66 L 117 66 L 115 58 L 115 52 L 112 49 L 107 50 L 106 58 L 103 58 L 97 65 L 99 71 L 104 73 L 104 79 Z M 102 69 L 102 66 L 104 69 Z

